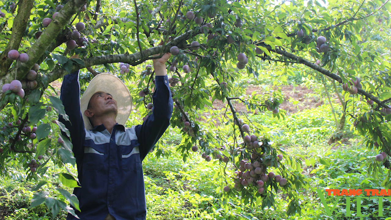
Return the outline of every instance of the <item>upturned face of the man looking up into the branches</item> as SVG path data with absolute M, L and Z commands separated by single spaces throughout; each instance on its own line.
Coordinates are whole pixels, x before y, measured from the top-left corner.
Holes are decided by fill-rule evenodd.
M 117 115 L 117 101 L 105 92 L 95 93 L 88 104 L 88 109 L 93 112 L 95 116 L 115 113 Z

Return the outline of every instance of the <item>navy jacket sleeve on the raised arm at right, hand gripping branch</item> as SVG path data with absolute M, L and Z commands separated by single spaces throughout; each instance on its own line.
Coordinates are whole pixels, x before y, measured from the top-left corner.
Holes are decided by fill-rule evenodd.
M 172 115 L 172 97 L 168 76 L 155 77 L 156 89 L 153 93 L 153 111 L 143 124 L 135 127 L 138 142 L 140 143 L 141 160 L 158 142 L 161 135 L 170 125 Z

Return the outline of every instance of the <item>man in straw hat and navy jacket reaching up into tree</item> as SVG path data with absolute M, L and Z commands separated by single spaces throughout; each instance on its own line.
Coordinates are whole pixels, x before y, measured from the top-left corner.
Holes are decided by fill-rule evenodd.
M 166 62 L 153 60 L 154 109 L 142 125 L 125 128 L 132 99 L 126 85 L 112 74 L 95 76 L 80 99 L 78 74 L 64 77 L 61 100 L 69 121 L 80 188 L 81 220 L 144 220 L 146 216 L 142 160 L 163 135 L 172 114 Z M 77 219 L 68 215 L 67 220 Z

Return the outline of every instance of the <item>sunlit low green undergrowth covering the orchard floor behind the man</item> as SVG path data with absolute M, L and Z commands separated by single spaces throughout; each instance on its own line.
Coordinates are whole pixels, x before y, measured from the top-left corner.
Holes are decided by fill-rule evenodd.
M 384 169 L 380 164 L 380 173 L 377 177 L 366 173 L 367 167 L 362 166 L 366 160 L 374 160 L 376 152 L 368 151 L 365 146 L 356 140 L 350 132 L 350 122 L 346 121 L 345 137 L 350 138 L 350 144 L 340 144 L 334 147 L 326 144 L 330 133 L 335 129 L 335 122 L 328 105 L 303 110 L 296 114 L 287 115 L 283 120 L 276 120 L 269 112 L 251 115 L 251 120 L 262 121 L 269 129 L 274 144 L 289 152 L 290 155 L 302 160 L 303 174 L 308 176 L 311 190 L 298 189 L 301 195 L 301 215 L 286 216 L 289 201 L 286 195 L 279 193 L 276 205 L 271 208 L 261 209 L 260 206 L 242 204 L 240 195 L 231 196 L 224 200 L 222 188 L 226 185 L 233 186 L 230 177 L 221 179 L 219 173 L 224 171 L 231 175 L 230 166 L 224 166 L 219 160 L 206 162 L 199 152 L 191 152 L 186 162 L 176 148 L 181 140 L 181 133 L 177 128 L 169 128 L 169 134 L 165 135 L 165 151 L 163 157 L 156 157 L 149 153 L 143 161 L 145 173 L 145 191 L 147 200 L 147 219 L 149 220 L 178 220 L 178 219 L 360 219 L 358 217 L 346 218 L 346 199 L 337 202 L 335 197 L 326 196 L 325 189 L 380 189 L 378 179 L 384 179 Z M 229 135 L 229 134 L 228 134 Z M 159 146 L 158 146 L 159 148 Z M 323 160 L 319 160 L 319 158 Z M 322 163 L 319 161 L 323 161 Z M 45 204 L 29 209 L 30 200 L 34 192 L 31 188 L 38 182 L 32 180 L 25 182 L 25 171 L 18 169 L 21 164 L 12 166 L 14 175 L 0 179 L 0 219 L 5 220 L 49 220 L 52 219 Z M 70 171 L 76 173 L 76 168 L 70 167 Z M 388 171 L 388 170 L 387 170 Z M 48 191 L 51 197 L 66 199 L 56 190 L 65 188 L 55 173 L 66 173 L 65 168 L 48 170 L 41 176 L 41 180 L 48 184 L 40 190 Z M 386 172 L 386 170 L 384 170 Z M 337 202 L 332 217 L 327 216 L 323 204 L 315 189 L 324 192 L 328 206 L 332 207 Z M 232 190 L 232 189 L 231 189 Z M 234 195 L 234 194 L 231 194 Z M 352 200 L 354 203 L 355 200 Z M 361 211 L 364 214 L 376 214 L 378 204 L 364 201 L 368 208 Z M 389 202 L 384 203 L 384 216 L 391 215 Z M 357 213 L 357 206 L 352 206 L 352 214 Z M 377 214 L 376 214 L 377 215 Z M 65 220 L 66 213 L 61 211 L 56 216 L 57 220 Z M 366 218 L 363 218 L 366 219 Z M 368 218 L 371 219 L 371 218 Z M 385 219 L 378 217 L 375 219 Z

